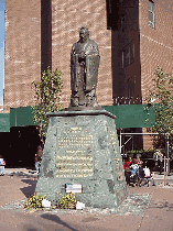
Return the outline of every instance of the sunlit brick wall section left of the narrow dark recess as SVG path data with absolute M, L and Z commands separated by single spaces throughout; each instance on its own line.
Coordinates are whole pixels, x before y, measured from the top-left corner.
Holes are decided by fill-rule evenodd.
M 6 1 L 4 111 L 33 105 L 32 81 L 41 77 L 40 1 Z

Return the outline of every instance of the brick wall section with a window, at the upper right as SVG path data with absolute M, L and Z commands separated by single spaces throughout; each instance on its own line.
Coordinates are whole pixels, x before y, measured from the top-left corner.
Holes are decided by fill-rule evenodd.
M 156 0 L 154 3 L 154 29 L 149 26 L 148 0 L 140 0 L 140 58 L 142 97 L 153 90 L 152 78 L 160 65 L 165 73 L 173 73 L 173 2 Z

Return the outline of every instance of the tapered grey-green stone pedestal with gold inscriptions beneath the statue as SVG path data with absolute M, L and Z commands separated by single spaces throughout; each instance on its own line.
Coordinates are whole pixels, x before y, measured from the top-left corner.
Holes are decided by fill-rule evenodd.
M 50 122 L 35 191 L 56 204 L 66 184 L 80 184 L 76 199 L 113 208 L 127 196 L 115 116 L 106 110 L 48 113 Z

